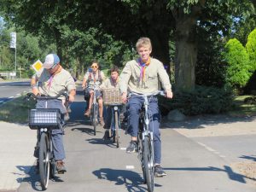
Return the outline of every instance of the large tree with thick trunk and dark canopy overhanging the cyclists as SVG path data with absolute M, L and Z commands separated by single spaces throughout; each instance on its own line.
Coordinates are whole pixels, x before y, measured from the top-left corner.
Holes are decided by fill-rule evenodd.
M 11 3 L 10 3 L 11 2 Z M 153 42 L 153 56 L 170 63 L 170 33 L 176 42 L 175 83 L 179 90 L 195 87 L 195 66 L 200 27 L 211 26 L 223 35 L 230 32 L 233 16 L 244 17 L 253 11 L 250 0 L 76 0 L 76 1 L 3 1 L 6 13 L 27 30 L 38 30 L 56 39 L 61 49 L 61 26 L 83 32 L 102 27 L 115 39 L 135 44 L 148 36 Z M 114 9 L 113 9 L 114 8 Z M 32 15 L 33 10 L 37 15 Z M 47 32 L 45 31 L 47 29 Z M 58 52 L 59 52 L 58 51 Z

